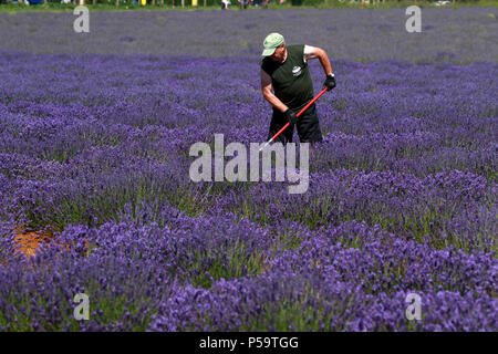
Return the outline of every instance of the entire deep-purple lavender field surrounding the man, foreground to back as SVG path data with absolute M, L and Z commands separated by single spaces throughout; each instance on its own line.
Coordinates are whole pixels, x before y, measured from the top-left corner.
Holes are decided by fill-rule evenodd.
M 344 49 L 323 45 L 338 87 L 317 102 L 309 190 L 193 183 L 194 143 L 267 137 L 256 45 L 274 28 L 253 12 L 258 44 L 227 55 L 153 41 L 126 53 L 135 37 L 120 46 L 111 32 L 83 52 L 0 44 L 1 331 L 498 330 L 497 46 L 448 37 L 458 50 L 437 54 L 425 38 L 419 55 L 378 44 L 361 61 L 333 30 L 301 24 L 300 41 Z M 188 15 L 208 28 L 221 14 Z M 35 256 L 20 228 L 50 235 Z M 89 321 L 73 317 L 76 293 Z M 406 317 L 408 293 L 421 321 Z

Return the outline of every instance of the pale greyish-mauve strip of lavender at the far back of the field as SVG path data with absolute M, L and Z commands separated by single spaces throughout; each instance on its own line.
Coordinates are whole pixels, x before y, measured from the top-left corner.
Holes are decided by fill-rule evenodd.
M 370 62 L 498 62 L 498 9 L 424 8 L 422 32 L 408 33 L 405 9 L 268 11 L 96 11 L 75 35 L 72 12 L 0 12 L 0 48 L 30 53 L 259 58 L 270 32 L 319 45 L 334 59 Z

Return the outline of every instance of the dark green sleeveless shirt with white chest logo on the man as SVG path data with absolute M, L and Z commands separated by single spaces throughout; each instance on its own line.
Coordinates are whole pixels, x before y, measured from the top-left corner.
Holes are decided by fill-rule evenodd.
M 287 59 L 277 63 L 266 56 L 261 69 L 271 77 L 274 95 L 295 113 L 313 100 L 308 63 L 304 62 L 304 45 L 288 45 Z

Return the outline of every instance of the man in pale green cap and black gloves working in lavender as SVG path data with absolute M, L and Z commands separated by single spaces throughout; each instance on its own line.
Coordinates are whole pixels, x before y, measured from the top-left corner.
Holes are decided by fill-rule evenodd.
M 319 59 L 325 72 L 324 87 L 335 87 L 335 77 L 326 53 L 311 45 L 286 45 L 283 37 L 270 33 L 263 42 L 261 61 L 261 91 L 263 97 L 272 105 L 268 139 L 286 128 L 274 140 L 282 144 L 292 142 L 294 125 L 298 127 L 299 140 L 313 144 L 322 140 L 315 105 L 312 104 L 299 118 L 297 113 L 314 97 L 308 61 Z M 272 92 L 274 91 L 274 93 Z

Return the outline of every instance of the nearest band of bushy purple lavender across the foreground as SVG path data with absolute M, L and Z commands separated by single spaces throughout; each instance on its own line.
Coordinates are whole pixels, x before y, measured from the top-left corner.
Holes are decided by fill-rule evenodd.
M 174 209 L 167 215 L 172 229 L 131 222 L 105 223 L 98 230 L 69 227 L 31 268 L 21 260 L 0 268 L 2 329 L 497 326 L 496 261 L 490 254 L 434 250 L 356 221 L 321 232 L 282 222 L 276 233 L 243 218 L 193 219 Z M 90 294 L 92 312 L 90 321 L 79 323 L 72 317 L 72 299 L 80 292 Z M 405 317 L 407 292 L 422 296 L 421 322 Z

